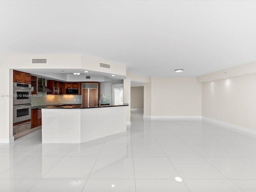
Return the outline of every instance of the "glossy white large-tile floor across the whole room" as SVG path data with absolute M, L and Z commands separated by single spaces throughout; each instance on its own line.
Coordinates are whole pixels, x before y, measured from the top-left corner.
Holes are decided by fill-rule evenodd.
M 253 135 L 132 112 L 127 132 L 82 144 L 0 144 L 0 192 L 256 192 L 255 162 Z

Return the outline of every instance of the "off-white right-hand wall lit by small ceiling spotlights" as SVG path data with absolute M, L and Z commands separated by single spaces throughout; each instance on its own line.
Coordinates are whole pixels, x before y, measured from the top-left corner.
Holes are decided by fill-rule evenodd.
M 256 130 L 256 74 L 202 84 L 202 116 Z

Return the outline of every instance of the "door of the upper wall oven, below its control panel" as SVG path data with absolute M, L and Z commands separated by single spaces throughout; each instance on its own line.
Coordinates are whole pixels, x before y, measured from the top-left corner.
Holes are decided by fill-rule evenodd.
M 13 88 L 13 105 L 31 104 L 31 88 Z

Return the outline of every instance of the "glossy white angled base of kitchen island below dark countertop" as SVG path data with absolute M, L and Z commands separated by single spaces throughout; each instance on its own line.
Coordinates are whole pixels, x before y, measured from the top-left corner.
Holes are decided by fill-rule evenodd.
M 42 143 L 82 143 L 126 131 L 126 106 L 42 108 Z

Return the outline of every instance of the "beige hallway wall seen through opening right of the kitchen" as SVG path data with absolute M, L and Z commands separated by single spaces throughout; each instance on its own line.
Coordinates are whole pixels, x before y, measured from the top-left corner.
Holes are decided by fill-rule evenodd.
M 144 108 L 144 88 L 142 86 L 131 87 L 131 109 Z

